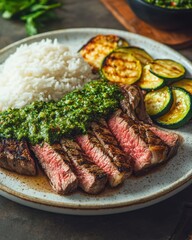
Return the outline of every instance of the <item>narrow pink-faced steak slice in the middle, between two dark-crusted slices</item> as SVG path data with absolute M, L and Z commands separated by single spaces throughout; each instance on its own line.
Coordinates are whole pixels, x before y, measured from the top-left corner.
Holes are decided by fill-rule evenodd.
M 122 167 L 122 164 L 114 161 L 108 155 L 93 131 L 88 131 L 86 135 L 78 136 L 76 140 L 90 160 L 108 174 L 109 184 L 112 187 L 124 181 L 126 171 Z

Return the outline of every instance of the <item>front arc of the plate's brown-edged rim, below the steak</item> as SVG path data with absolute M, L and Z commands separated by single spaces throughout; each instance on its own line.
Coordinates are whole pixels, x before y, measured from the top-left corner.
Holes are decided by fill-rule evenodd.
M 137 203 L 134 203 L 134 200 L 132 202 L 129 202 L 129 204 L 126 204 L 126 202 L 124 203 L 117 203 L 117 204 L 109 204 L 108 206 L 104 205 L 104 206 L 100 206 L 100 207 L 94 207 L 91 205 L 86 205 L 85 206 L 81 206 L 79 205 L 77 206 L 72 206 L 71 204 L 66 204 L 66 203 L 57 203 L 57 202 L 52 202 L 50 200 L 42 200 L 36 197 L 29 197 L 26 194 L 23 193 L 18 193 L 12 189 L 9 189 L 8 187 L 4 186 L 2 183 L 0 183 L 0 195 L 1 196 L 7 196 L 8 199 L 12 200 L 12 199 L 17 199 L 17 203 L 23 202 L 23 205 L 29 206 L 29 207 L 33 207 L 34 206 L 38 206 L 38 205 L 43 205 L 45 207 L 48 208 L 54 208 L 55 210 L 57 209 L 56 212 L 58 212 L 58 210 L 63 209 L 63 211 L 59 211 L 60 213 L 65 213 L 65 210 L 70 210 L 71 212 L 73 212 L 74 210 L 79 210 L 79 211 L 86 211 L 86 212 L 95 212 L 98 210 L 105 210 L 108 212 L 108 210 L 111 209 L 119 209 L 118 213 L 121 212 L 121 208 L 130 208 L 131 210 L 136 210 L 136 209 L 140 209 L 143 207 L 147 207 L 150 206 L 152 204 L 161 202 L 162 200 L 165 200 L 169 197 L 174 196 L 176 193 L 180 192 L 181 190 L 187 188 L 190 184 L 192 183 L 192 175 L 188 176 L 188 178 L 183 179 L 183 181 L 179 181 L 176 185 L 174 185 L 174 187 L 167 187 L 163 192 L 161 193 L 156 193 L 153 194 L 151 196 L 145 197 L 143 200 L 141 199 L 140 201 L 138 201 Z M 2 191 L 5 193 L 3 194 Z M 129 211 L 129 209 L 127 210 Z M 100 213 L 94 213 L 93 215 L 98 215 Z M 104 213 L 105 214 L 105 213 Z M 80 214 L 81 215 L 81 214 Z M 83 214 L 86 215 L 86 214 Z

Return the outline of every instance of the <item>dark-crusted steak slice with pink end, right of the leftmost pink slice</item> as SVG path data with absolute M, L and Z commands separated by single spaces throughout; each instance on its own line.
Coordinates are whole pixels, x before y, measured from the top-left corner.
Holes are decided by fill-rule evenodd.
M 63 138 L 61 145 L 72 162 L 79 186 L 87 193 L 101 192 L 107 182 L 107 174 L 90 162 L 75 141 Z

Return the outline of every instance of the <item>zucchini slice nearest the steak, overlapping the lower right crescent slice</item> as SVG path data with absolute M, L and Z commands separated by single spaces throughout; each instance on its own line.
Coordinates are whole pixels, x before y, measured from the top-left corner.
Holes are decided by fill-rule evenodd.
M 149 116 L 157 118 L 170 110 L 173 104 L 173 93 L 170 87 L 165 86 L 159 90 L 147 93 L 144 101 Z

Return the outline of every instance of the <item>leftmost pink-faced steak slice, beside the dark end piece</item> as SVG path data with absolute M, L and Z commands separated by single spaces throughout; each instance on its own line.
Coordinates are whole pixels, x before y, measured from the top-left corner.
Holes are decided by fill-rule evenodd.
M 77 188 L 77 177 L 71 170 L 71 162 L 59 143 L 37 144 L 32 146 L 32 150 L 57 193 L 66 194 Z

